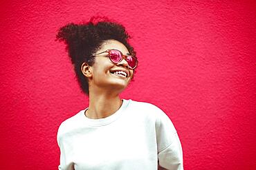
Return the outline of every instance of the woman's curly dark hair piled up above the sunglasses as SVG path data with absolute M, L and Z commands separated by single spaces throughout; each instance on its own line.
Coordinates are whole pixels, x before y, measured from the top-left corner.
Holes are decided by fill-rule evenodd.
M 98 21 L 98 20 L 101 21 Z M 131 38 L 125 27 L 120 23 L 110 21 L 106 17 L 92 17 L 89 22 L 82 24 L 68 23 L 58 30 L 56 40 L 64 41 L 68 56 L 74 65 L 77 81 L 82 91 L 89 95 L 89 81 L 81 71 L 82 63 L 93 65 L 92 55 L 100 49 L 102 43 L 109 39 L 119 41 L 130 54 L 136 56 L 134 47 L 128 43 Z

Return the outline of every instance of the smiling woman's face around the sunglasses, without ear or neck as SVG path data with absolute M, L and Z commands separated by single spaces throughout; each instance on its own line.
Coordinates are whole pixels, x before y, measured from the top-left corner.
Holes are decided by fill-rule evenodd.
M 104 52 L 106 50 L 116 49 L 122 54 L 129 54 L 127 47 L 116 40 L 105 41 L 100 50 L 95 54 Z M 106 57 L 107 56 L 107 57 Z M 125 72 L 127 76 L 117 74 L 118 71 Z M 115 73 L 116 72 L 116 73 Z M 122 59 L 120 63 L 112 63 L 108 57 L 108 53 L 104 52 L 95 56 L 95 63 L 91 66 L 91 78 L 89 78 L 89 85 L 91 88 L 98 88 L 101 90 L 108 90 L 109 92 L 122 92 L 131 81 L 134 70 L 129 69 L 127 61 Z

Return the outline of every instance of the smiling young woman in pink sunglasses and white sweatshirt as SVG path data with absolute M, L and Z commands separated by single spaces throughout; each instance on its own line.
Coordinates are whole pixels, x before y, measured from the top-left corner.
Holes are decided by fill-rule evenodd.
M 57 133 L 59 169 L 183 169 L 181 142 L 158 107 L 119 94 L 138 65 L 125 28 L 111 21 L 68 24 L 57 39 L 67 45 L 89 107 Z

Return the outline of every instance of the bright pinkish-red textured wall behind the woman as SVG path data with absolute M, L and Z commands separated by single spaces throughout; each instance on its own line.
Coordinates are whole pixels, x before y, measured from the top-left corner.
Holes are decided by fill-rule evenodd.
M 1 1 L 1 169 L 57 169 L 57 128 L 84 109 L 57 29 L 123 23 L 139 67 L 123 98 L 161 107 L 185 169 L 256 169 L 255 1 Z

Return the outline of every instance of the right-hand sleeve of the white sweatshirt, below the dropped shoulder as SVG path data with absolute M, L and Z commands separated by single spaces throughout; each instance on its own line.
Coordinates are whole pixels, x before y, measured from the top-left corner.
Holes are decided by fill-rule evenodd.
M 156 119 L 158 163 L 169 170 L 183 170 L 181 142 L 170 118 L 161 111 Z

